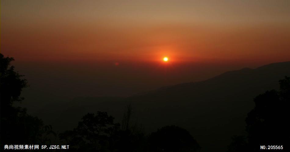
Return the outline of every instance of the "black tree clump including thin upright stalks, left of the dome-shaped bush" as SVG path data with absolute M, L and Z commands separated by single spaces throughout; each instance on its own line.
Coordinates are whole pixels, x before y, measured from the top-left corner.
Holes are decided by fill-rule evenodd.
M 123 123 L 114 123 L 114 117 L 107 112 L 88 113 L 73 130 L 60 134 L 60 139 L 72 145 L 74 151 L 144 151 L 143 133 L 132 131 L 130 125 L 132 107 L 127 106 Z

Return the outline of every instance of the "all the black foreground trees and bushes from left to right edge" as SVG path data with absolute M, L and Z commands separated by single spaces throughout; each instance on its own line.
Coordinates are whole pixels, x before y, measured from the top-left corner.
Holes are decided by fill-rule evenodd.
M 28 86 L 27 81 L 10 65 L 13 58 L 0 55 L 0 151 L 7 144 L 67 144 L 70 151 L 100 152 L 202 150 L 190 132 L 179 126 L 164 126 L 145 134 L 142 125 L 131 119 L 131 105 L 126 107 L 119 123 L 107 112 L 88 113 L 73 130 L 55 132 L 38 117 L 28 115 L 27 109 L 13 106 L 24 100 L 20 95 Z M 228 151 L 258 151 L 260 145 L 284 145 L 285 150 L 288 149 L 290 78 L 285 77 L 279 84 L 279 91 L 267 91 L 254 99 L 255 108 L 245 120 L 247 134 L 233 136 Z

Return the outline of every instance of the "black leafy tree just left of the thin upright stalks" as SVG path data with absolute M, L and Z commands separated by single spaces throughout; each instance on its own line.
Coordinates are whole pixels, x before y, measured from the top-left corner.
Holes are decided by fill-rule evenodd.
M 107 112 L 88 113 L 76 128 L 61 133 L 60 139 L 66 140 L 75 151 L 106 151 L 111 148 L 112 137 L 119 128 L 120 124 L 114 123 Z

